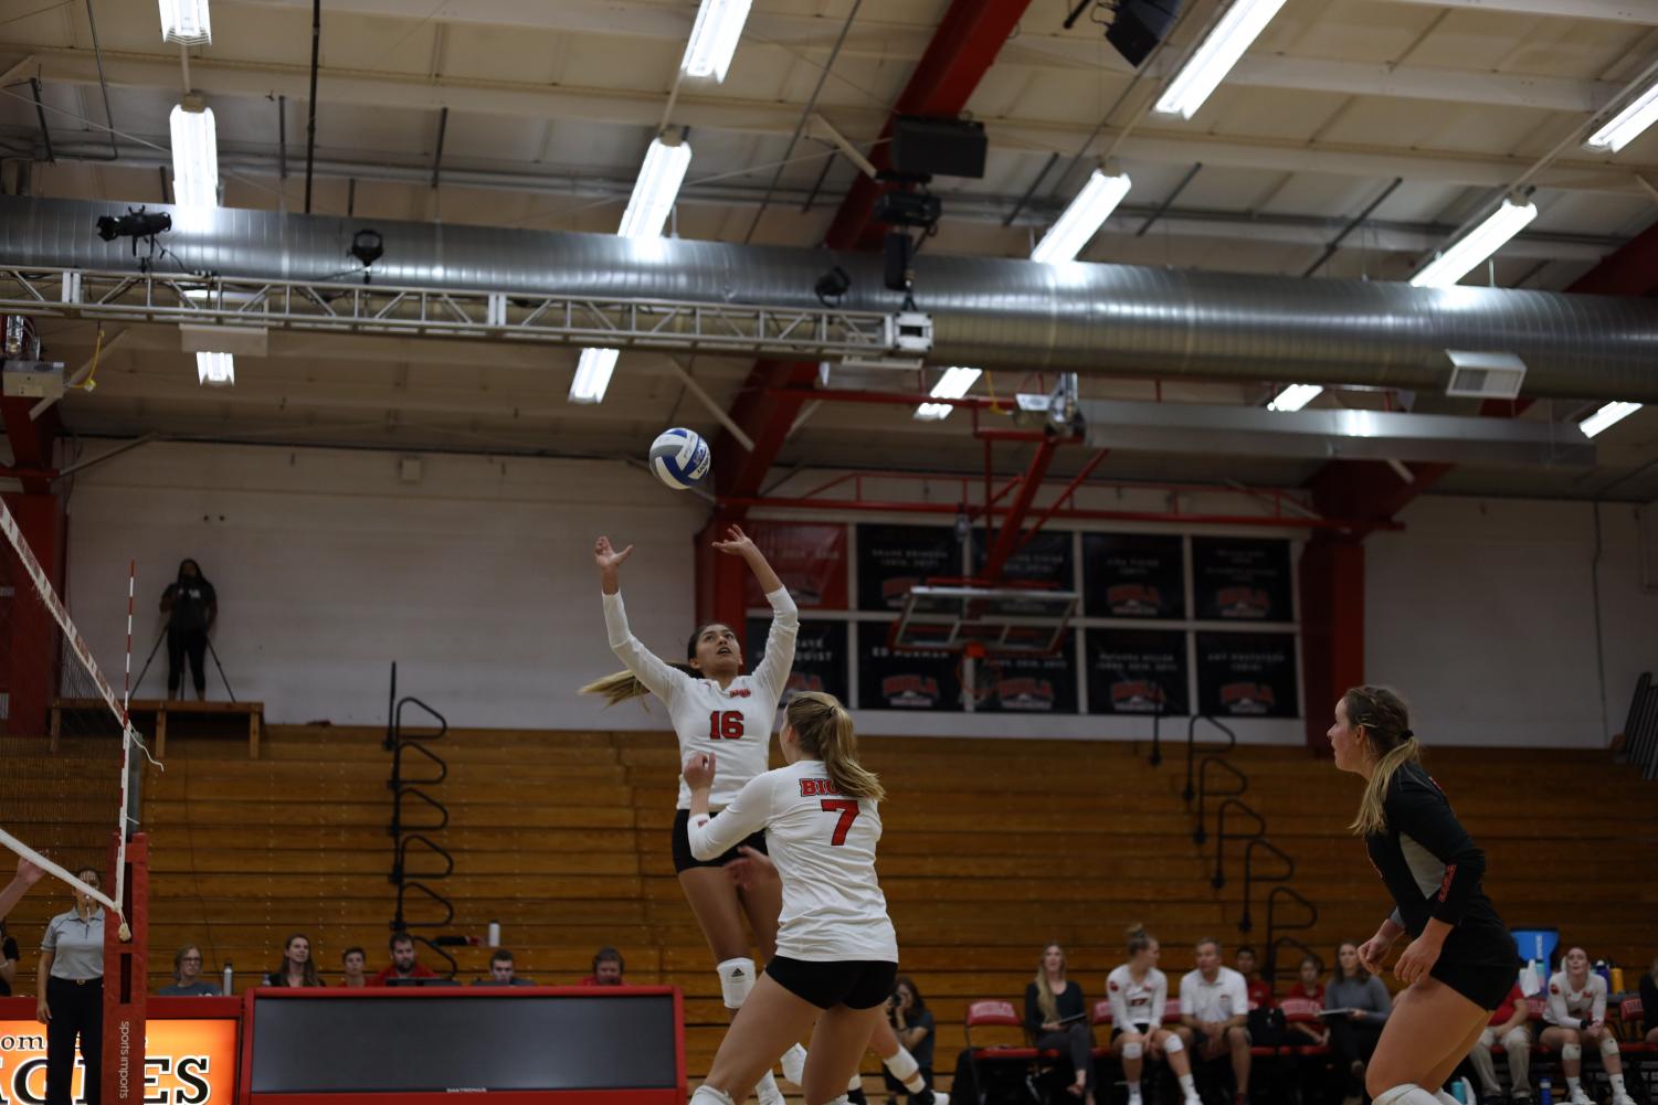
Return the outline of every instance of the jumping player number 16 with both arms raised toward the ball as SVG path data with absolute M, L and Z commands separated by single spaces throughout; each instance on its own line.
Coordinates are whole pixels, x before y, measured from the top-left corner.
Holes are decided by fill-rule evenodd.
M 594 562 L 599 565 L 599 590 L 604 593 L 605 631 L 610 649 L 627 671 L 590 683 L 582 691 L 602 694 L 612 704 L 655 694 L 668 707 L 673 732 L 680 739 L 681 760 L 718 749 L 720 772 L 710 797 L 711 808 L 718 812 L 738 795 L 743 784 L 766 770 L 771 726 L 778 699 L 783 697 L 783 688 L 789 679 L 789 668 L 794 664 L 794 638 L 801 620 L 783 580 L 739 527 L 733 525 L 726 540 L 715 542 L 715 548 L 748 562 L 761 590 L 766 591 L 766 601 L 771 603 L 766 653 L 753 674 L 743 674 L 743 649 L 736 631 L 718 621 L 691 635 L 683 664 L 670 664 L 645 648 L 628 630 L 627 610 L 622 606 L 620 568 L 633 547 L 617 552 L 608 537 L 600 537 L 594 543 Z M 673 870 L 703 936 L 708 938 L 708 948 L 718 964 L 725 1006 L 738 1009 L 753 989 L 756 976 L 754 959 L 748 954 L 748 936 L 743 933 L 743 916 L 748 914 L 761 954 L 769 959 L 776 951 L 778 911 L 783 900 L 776 885 L 739 890 L 726 878 L 720 868 L 726 860 L 736 858 L 734 847 L 728 855 L 693 856 L 686 838 L 690 807 L 691 790 L 681 782 L 673 822 Z M 748 843 L 761 850 L 766 847 L 758 833 Z M 806 1052 L 796 1042 L 783 1055 L 786 1077 L 797 1083 L 804 1064 Z M 781 1102 L 771 1070 L 759 1078 L 756 1093 L 761 1105 Z

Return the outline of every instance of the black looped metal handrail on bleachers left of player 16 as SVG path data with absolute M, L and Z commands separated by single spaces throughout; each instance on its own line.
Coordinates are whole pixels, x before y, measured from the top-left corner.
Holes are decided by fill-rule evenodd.
M 391 664 L 391 691 L 388 696 L 386 739 L 381 747 L 391 752 L 391 777 L 386 789 L 391 790 L 391 875 L 388 881 L 396 886 L 396 911 L 391 918 L 391 931 L 408 933 L 411 928 L 443 928 L 454 919 L 454 903 L 446 895 L 433 890 L 429 883 L 449 878 L 454 873 L 454 855 L 429 833 L 443 832 L 449 825 L 449 808 L 426 787 L 436 787 L 449 777 L 449 764 L 433 749 L 426 747 L 433 741 L 441 741 L 449 732 L 449 722 L 436 709 L 419 701 L 413 694 L 398 697 L 398 666 Z M 403 711 L 413 706 L 438 722 L 438 731 L 419 737 L 403 736 Z M 405 772 L 405 755 L 413 755 L 426 767 L 424 772 L 410 775 Z M 426 817 L 411 818 L 405 812 L 405 802 L 426 810 Z M 438 860 L 433 866 L 411 863 L 410 853 L 426 860 Z M 426 903 L 436 905 L 438 913 L 431 916 L 410 918 L 410 895 L 416 895 Z M 426 944 L 433 953 L 449 964 L 453 974 L 458 967 L 454 956 L 424 936 L 411 936 Z

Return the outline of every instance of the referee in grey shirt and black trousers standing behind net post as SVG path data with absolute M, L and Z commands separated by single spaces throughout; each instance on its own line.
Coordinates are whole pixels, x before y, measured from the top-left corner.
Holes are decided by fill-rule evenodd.
M 98 888 L 98 871 L 75 876 Z M 46 1025 L 46 1105 L 71 1105 L 75 1037 L 81 1040 L 86 1069 L 83 1097 L 99 1105 L 103 1097 L 103 906 L 75 886 L 75 908 L 46 923 L 40 941 L 40 994 L 35 1016 Z

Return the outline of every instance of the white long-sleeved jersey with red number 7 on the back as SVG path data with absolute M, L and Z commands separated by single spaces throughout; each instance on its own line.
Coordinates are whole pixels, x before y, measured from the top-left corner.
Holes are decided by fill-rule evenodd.
M 783 880 L 779 956 L 899 961 L 875 880 L 875 802 L 841 797 L 821 760 L 799 760 L 749 780 L 713 818 L 693 817 L 691 855 L 711 860 L 761 828 Z

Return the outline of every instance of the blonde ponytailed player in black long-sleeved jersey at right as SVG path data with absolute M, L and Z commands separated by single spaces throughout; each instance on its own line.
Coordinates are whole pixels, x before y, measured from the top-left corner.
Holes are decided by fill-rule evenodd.
M 1365 1088 L 1374 1105 L 1454 1102 L 1444 1082 L 1520 967 L 1514 938 L 1479 885 L 1486 853 L 1423 770 L 1398 694 L 1353 688 L 1336 702 L 1328 736 L 1336 767 L 1366 779 L 1351 828 L 1396 905 L 1358 949 L 1360 961 L 1379 974 L 1393 943 L 1411 934 L 1393 967 L 1408 987 L 1394 999 Z

